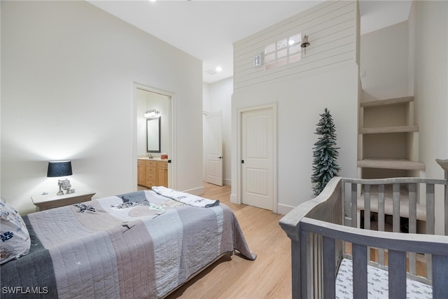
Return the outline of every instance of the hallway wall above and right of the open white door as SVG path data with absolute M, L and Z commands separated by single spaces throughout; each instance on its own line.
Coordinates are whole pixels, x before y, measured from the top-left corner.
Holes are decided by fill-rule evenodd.
M 204 83 L 207 84 L 207 83 Z M 231 185 L 232 183 L 232 149 L 231 149 L 231 128 L 232 128 L 232 93 L 233 78 L 226 78 L 221 81 L 207 84 L 209 95 L 207 97 L 207 109 L 204 105 L 204 111 L 216 112 L 223 111 L 223 183 Z

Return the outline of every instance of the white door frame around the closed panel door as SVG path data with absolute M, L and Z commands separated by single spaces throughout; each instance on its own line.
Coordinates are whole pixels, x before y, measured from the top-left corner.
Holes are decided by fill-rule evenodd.
M 272 109 L 272 212 L 277 212 L 277 205 L 278 205 L 278 199 L 277 199 L 277 103 L 269 103 L 269 104 L 263 104 L 258 106 L 249 106 L 244 108 L 237 109 L 237 116 L 238 116 L 238 124 L 237 124 L 237 203 L 241 204 L 243 202 L 243 188 L 242 188 L 242 152 L 243 152 L 243 145 L 242 145 L 242 119 L 243 119 L 243 113 L 249 112 L 249 111 L 257 111 L 262 109 Z

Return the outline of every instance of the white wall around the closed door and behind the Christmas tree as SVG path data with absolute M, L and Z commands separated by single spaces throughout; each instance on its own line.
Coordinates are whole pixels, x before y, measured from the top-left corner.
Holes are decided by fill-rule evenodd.
M 358 131 L 358 24 L 356 1 L 325 1 L 235 43 L 232 96 L 232 202 L 241 201 L 238 173 L 238 109 L 277 104 L 277 211 L 313 196 L 312 148 L 325 108 L 335 121 L 341 176 L 356 177 Z M 309 35 L 300 62 L 265 70 L 253 56 L 291 34 Z

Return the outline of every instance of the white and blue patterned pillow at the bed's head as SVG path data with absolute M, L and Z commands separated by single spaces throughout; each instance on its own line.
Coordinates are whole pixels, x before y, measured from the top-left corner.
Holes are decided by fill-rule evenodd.
M 0 200 L 0 218 L 0 264 L 3 264 L 25 256 L 29 252 L 31 239 L 22 216 L 3 198 Z

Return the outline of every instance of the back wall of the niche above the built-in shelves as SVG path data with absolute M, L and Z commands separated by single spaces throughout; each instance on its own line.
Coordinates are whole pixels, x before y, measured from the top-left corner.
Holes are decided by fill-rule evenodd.
M 365 100 L 405 97 L 408 89 L 407 22 L 360 37 L 360 74 Z M 365 76 L 363 76 L 365 74 Z

